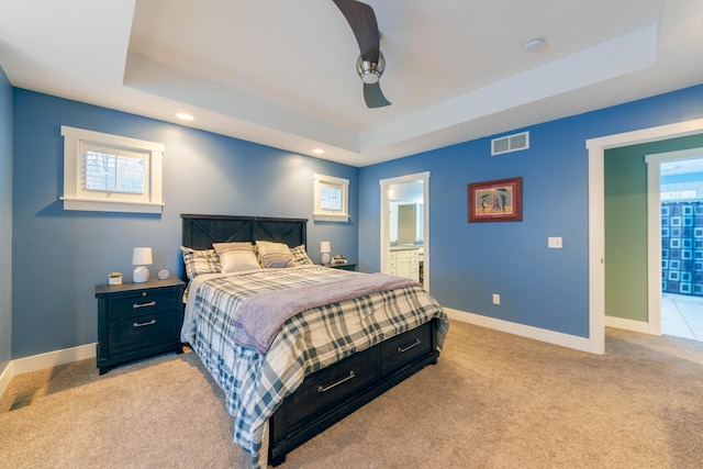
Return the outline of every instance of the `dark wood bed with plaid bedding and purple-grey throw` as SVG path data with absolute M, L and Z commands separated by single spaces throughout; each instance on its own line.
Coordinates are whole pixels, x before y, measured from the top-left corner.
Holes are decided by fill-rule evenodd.
M 234 442 L 253 467 L 280 465 L 295 447 L 437 362 L 448 321 L 429 293 L 408 279 L 312 265 L 304 254 L 306 220 L 181 219 L 189 281 L 181 340 L 224 391 Z M 213 243 L 219 249 L 260 245 L 257 260 L 266 268 L 249 269 L 237 257 L 230 271 L 231 257 L 210 257 Z M 281 266 L 288 255 L 278 252 L 263 256 L 267 243 L 284 245 L 294 261 Z M 198 257 L 198 275 L 188 257 L 193 253 L 208 256 Z M 269 314 L 281 315 L 278 327 L 261 323 Z

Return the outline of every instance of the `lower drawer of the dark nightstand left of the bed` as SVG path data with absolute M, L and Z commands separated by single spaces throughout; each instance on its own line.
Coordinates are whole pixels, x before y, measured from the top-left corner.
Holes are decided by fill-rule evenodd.
M 175 312 L 111 321 L 108 350 L 111 356 L 170 344 L 178 337 L 180 319 Z

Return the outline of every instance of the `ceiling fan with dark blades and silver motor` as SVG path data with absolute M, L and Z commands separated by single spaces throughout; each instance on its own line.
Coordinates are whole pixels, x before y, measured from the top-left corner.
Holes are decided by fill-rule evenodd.
M 379 79 L 386 68 L 386 59 L 381 54 L 381 35 L 373 9 L 356 0 L 333 0 L 342 14 L 347 19 L 352 31 L 359 44 L 359 58 L 356 60 L 356 71 L 364 81 L 364 100 L 369 108 L 382 108 L 390 101 L 383 97 Z

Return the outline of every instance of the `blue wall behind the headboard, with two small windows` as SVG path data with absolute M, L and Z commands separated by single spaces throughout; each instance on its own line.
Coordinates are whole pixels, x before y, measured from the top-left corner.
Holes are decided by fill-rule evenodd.
M 308 219 L 313 260 L 357 258 L 357 168 L 22 89 L 13 110 L 13 359 L 96 342 L 94 286 L 130 279 L 134 246 L 178 272 L 181 213 Z M 60 125 L 164 143 L 163 214 L 64 211 Z M 350 222 L 313 223 L 314 172 L 349 179 Z

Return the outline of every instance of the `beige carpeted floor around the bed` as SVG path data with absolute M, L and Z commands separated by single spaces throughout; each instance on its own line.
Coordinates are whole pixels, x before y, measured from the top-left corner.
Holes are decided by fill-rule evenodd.
M 86 360 L 13 379 L 0 467 L 246 468 L 231 425 L 194 354 Z M 701 343 L 607 330 L 595 356 L 453 322 L 438 365 L 280 468 L 699 468 L 701 435 Z

